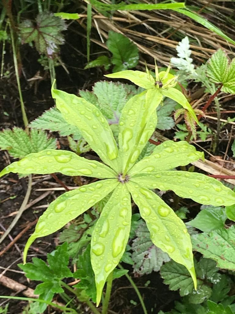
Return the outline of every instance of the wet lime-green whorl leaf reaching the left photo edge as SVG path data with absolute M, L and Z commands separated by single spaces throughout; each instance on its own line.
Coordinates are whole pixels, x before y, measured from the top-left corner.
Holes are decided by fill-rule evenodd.
M 9 173 L 49 174 L 60 172 L 67 176 L 89 176 L 100 179 L 115 178 L 116 173 L 106 165 L 80 157 L 67 150 L 45 149 L 32 153 L 8 165 L 0 177 Z

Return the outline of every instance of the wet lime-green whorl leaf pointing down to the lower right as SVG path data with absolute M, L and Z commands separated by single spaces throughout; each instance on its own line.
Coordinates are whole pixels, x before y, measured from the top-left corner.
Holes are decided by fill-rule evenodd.
M 154 192 L 131 181 L 127 186 L 146 221 L 152 242 L 188 269 L 196 289 L 192 245 L 183 221 Z

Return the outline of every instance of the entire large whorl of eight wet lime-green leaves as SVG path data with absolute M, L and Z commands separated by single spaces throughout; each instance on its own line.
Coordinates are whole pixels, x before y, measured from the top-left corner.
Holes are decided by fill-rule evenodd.
M 150 156 L 136 162 L 154 132 L 157 120 L 157 103 L 154 106 L 154 102 L 146 101 L 145 91 L 133 96 L 123 107 L 118 144 L 107 120 L 96 106 L 53 88 L 52 96 L 64 119 L 79 127 L 82 136 L 103 163 L 87 160 L 70 151 L 45 149 L 13 162 L 3 169 L 0 176 L 9 172 L 61 172 L 69 176 L 90 176 L 104 180 L 65 192 L 50 203 L 26 243 L 24 262 L 29 246 L 36 238 L 59 230 L 112 192 L 91 238 L 97 304 L 100 303 L 107 276 L 118 265 L 125 251 L 131 227 L 131 197 L 146 221 L 153 243 L 188 269 L 196 288 L 192 246 L 187 229 L 174 211 L 150 189 L 173 190 L 180 197 L 215 206 L 234 204 L 235 193 L 211 177 L 170 171 L 203 158 L 203 153 L 184 141 L 167 141 L 156 146 Z

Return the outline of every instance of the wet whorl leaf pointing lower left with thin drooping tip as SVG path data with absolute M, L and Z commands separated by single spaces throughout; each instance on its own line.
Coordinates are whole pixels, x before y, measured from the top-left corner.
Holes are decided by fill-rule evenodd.
M 118 185 L 116 179 L 107 179 L 65 192 L 50 203 L 39 217 L 34 233 L 29 237 L 24 248 L 24 263 L 29 246 L 36 238 L 48 236 L 66 225 L 70 220 L 84 213 L 99 202 Z

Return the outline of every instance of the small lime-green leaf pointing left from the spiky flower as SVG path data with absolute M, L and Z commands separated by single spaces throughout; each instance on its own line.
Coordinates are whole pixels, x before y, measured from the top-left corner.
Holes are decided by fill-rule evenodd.
M 120 71 L 112 74 L 104 75 L 107 78 L 126 78 L 132 83 L 145 88 L 150 89 L 154 87 L 155 80 L 152 77 L 152 75 L 149 75 L 145 72 L 141 71 L 133 71 L 133 70 L 126 70 L 126 71 Z

